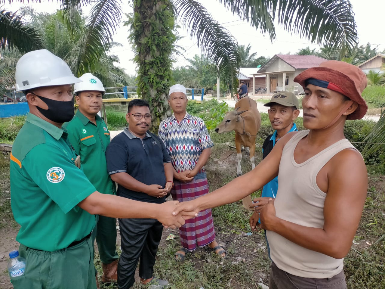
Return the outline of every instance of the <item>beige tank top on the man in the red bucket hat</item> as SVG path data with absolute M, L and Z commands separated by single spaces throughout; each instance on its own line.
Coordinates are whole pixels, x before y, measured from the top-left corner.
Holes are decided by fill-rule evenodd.
M 341 139 L 303 163 L 296 163 L 294 150 L 308 130 L 293 136 L 282 151 L 275 199 L 276 216 L 301 226 L 323 228 L 326 193 L 316 184 L 321 168 L 338 152 L 354 148 Z M 355 149 L 355 148 L 354 148 Z M 330 278 L 343 269 L 343 259 L 335 259 L 297 245 L 281 235 L 266 231 L 271 259 L 283 271 L 307 278 Z

